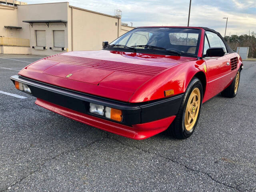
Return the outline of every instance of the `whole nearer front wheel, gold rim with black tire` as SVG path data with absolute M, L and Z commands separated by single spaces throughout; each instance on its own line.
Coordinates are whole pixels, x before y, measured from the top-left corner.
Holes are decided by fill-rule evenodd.
M 167 130 L 168 134 L 179 139 L 188 138 L 193 134 L 201 112 L 202 95 L 202 83 L 195 77 L 188 85 L 178 114 Z

